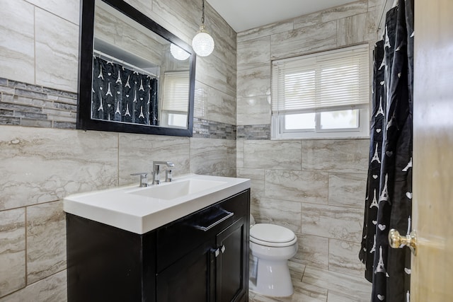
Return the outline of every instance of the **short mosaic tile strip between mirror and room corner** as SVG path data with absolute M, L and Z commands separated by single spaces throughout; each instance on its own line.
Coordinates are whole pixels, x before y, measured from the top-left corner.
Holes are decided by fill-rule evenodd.
M 236 140 L 236 125 L 202 120 L 194 117 L 193 137 Z

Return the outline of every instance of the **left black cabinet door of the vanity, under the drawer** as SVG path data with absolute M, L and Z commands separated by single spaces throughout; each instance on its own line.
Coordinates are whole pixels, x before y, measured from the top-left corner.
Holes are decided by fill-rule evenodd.
M 214 301 L 214 242 L 195 248 L 156 276 L 156 301 Z

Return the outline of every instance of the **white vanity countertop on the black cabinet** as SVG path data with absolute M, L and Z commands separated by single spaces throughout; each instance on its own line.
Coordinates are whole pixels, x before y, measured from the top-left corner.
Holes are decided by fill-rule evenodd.
M 171 195 L 173 187 L 188 181 L 209 185 L 206 188 L 198 187 L 197 192 L 188 192 L 183 196 L 170 199 L 155 198 L 151 197 L 151 193 L 147 194 L 155 189 L 159 192 L 170 189 L 168 192 Z M 70 214 L 143 234 L 248 188 L 250 188 L 250 180 L 245 178 L 185 175 L 176 178 L 173 182 L 163 182 L 161 185 L 149 187 L 130 185 L 74 194 L 63 199 L 63 209 Z

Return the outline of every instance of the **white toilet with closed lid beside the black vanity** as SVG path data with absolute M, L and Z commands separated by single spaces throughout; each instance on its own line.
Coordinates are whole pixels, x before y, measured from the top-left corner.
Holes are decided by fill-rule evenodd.
M 294 290 L 287 260 L 297 252 L 294 232 L 275 224 L 255 223 L 250 216 L 250 251 L 250 290 L 263 296 L 291 296 Z

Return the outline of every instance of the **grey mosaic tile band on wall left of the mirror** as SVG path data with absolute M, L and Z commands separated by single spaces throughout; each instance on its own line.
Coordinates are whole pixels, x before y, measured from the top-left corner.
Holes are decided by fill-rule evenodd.
M 0 124 L 76 129 L 77 94 L 0 78 Z

